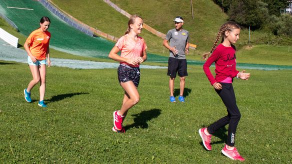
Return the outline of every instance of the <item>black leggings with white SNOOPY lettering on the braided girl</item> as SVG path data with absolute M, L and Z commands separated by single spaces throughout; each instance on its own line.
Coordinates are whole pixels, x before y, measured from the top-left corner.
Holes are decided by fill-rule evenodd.
M 240 119 L 240 112 L 236 105 L 235 94 L 233 90 L 232 83 L 220 83 L 222 85 L 221 90 L 216 90 L 216 92 L 221 97 L 223 103 L 227 108 L 228 114 L 216 122 L 208 126 L 207 130 L 210 134 L 214 133 L 218 128 L 225 126 L 229 123 L 228 126 L 228 138 L 227 145 L 234 146 L 235 142 L 235 132 L 237 128 L 237 124 Z

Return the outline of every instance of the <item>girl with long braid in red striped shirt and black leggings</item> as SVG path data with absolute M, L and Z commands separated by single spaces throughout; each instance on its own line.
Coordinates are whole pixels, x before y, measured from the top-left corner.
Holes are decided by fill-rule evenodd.
M 232 81 L 234 77 L 244 80 L 248 80 L 249 78 L 249 73 L 244 73 L 244 70 L 241 72 L 236 70 L 235 46 L 233 43 L 239 38 L 239 33 L 240 27 L 238 24 L 232 21 L 224 23 L 219 29 L 217 38 L 210 51 L 212 54 L 203 65 L 203 70 L 207 78 L 221 97 L 228 114 L 208 127 L 200 128 L 198 132 L 202 138 L 204 147 L 207 150 L 211 150 L 211 134 L 217 129 L 229 124 L 227 142 L 221 152 L 231 159 L 244 160 L 234 147 L 235 132 L 240 119 L 240 112 L 236 105 Z M 221 43 L 215 48 L 220 36 L 222 36 Z M 204 57 L 210 53 L 204 54 Z M 215 62 L 215 78 L 209 69 L 213 62 Z

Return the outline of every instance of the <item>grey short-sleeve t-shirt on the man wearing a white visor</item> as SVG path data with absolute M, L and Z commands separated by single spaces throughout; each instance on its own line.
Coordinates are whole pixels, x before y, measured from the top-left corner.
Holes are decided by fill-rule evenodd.
M 171 50 L 169 50 L 169 57 L 174 57 L 178 59 L 185 59 L 185 45 L 188 42 L 188 31 L 185 29 L 181 29 L 180 31 L 176 31 L 175 28 L 170 29 L 165 39 L 169 41 L 169 46 L 175 46 L 178 53 L 174 55 Z

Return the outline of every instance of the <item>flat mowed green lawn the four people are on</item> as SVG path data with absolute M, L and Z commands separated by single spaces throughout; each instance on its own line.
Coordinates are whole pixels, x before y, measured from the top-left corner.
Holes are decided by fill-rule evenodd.
M 247 70 L 234 79 L 241 119 L 236 146 L 245 163 L 291 162 L 291 70 Z M 197 132 L 226 114 L 201 66 L 189 66 L 185 103 L 168 100 L 166 69 L 141 69 L 140 102 L 114 133 L 112 112 L 121 105 L 116 69 L 49 67 L 45 101 L 23 97 L 27 64 L 0 61 L 0 161 L 2 163 L 238 163 L 220 152 L 227 126 L 206 151 Z M 178 93 L 178 79 L 175 94 Z

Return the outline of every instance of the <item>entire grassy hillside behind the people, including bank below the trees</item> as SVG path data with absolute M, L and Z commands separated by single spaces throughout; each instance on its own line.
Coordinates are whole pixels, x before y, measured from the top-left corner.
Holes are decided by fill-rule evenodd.
M 115 11 L 103 0 L 52 0 L 60 8 L 97 29 L 114 36 L 121 36 L 127 26 L 127 17 Z M 227 19 L 227 15 L 213 3 L 212 0 L 194 0 L 193 13 L 191 16 L 189 0 L 111 0 L 120 8 L 130 14 L 139 14 L 144 22 L 160 32 L 166 33 L 174 27 L 173 17 L 181 15 L 185 19 L 184 28 L 190 32 L 190 42 L 197 44 L 197 50 L 190 51 L 188 59 L 200 59 L 200 55 L 210 50 L 218 28 Z M 68 5 L 70 4 L 70 5 Z M 165 5 L 167 4 L 167 5 Z M 292 50 L 287 51 L 288 46 L 269 46 L 269 52 L 260 51 L 265 45 L 256 45 L 254 50 L 244 48 L 248 44 L 247 29 L 242 29 L 240 39 L 236 43 L 240 54 L 238 62 L 284 64 L 291 65 L 286 57 L 292 56 Z M 143 30 L 141 36 L 145 38 L 148 51 L 168 56 L 168 51 L 162 46 L 162 39 Z M 260 31 L 251 31 L 251 43 L 268 44 L 266 40 L 273 40 L 272 34 Z M 257 49 L 258 48 L 258 49 Z M 164 52 L 164 53 L 163 53 Z M 279 55 L 285 54 L 285 55 Z M 266 55 L 268 53 L 268 55 Z M 249 54 L 249 55 L 245 55 Z M 284 62 L 282 62 L 284 61 Z

